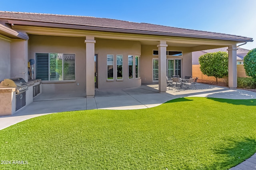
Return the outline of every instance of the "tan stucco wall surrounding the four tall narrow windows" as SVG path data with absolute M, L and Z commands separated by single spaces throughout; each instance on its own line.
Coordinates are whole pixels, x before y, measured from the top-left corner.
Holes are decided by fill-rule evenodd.
M 128 55 L 133 55 L 134 58 L 136 55 L 140 56 L 140 42 L 97 38 L 95 40 L 95 53 L 98 54 L 98 89 L 105 90 L 140 86 L 140 78 L 128 79 Z M 114 81 L 111 82 L 107 81 L 107 55 L 114 55 Z M 122 81 L 116 80 L 116 55 L 123 55 Z

